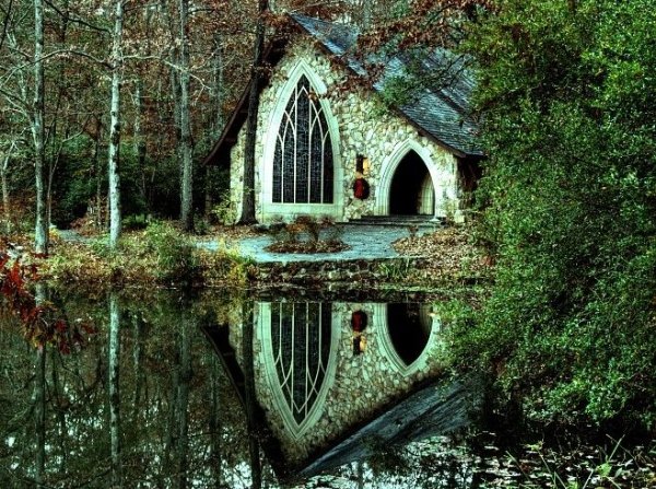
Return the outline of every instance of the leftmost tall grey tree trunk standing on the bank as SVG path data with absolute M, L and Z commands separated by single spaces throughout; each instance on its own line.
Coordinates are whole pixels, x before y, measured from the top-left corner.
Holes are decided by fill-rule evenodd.
M 44 2 L 34 0 L 34 117 L 32 136 L 34 138 L 36 181 L 36 225 L 34 231 L 34 247 L 36 253 L 48 253 L 48 225 L 46 222 L 46 201 L 44 188 L 45 167 L 45 82 L 44 82 Z

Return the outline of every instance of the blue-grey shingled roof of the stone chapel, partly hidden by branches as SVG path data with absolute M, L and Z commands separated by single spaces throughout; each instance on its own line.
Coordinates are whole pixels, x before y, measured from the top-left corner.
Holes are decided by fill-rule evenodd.
M 410 72 L 410 63 L 417 62 L 402 53 L 393 55 L 376 53 L 363 59 L 361 56 L 355 56 L 355 45 L 360 34 L 356 28 L 296 13 L 289 14 L 289 18 L 302 32 L 313 37 L 328 55 L 341 60 L 356 75 L 370 77 L 373 67 L 383 66 L 383 73 L 373 83 L 373 90 L 376 92 L 383 92 L 386 83 Z M 267 60 L 274 66 L 283 54 L 284 44 L 271 45 Z M 415 68 L 413 67 L 414 70 Z M 432 56 L 422 60 L 420 67 L 426 72 L 436 68 L 443 69 L 449 82 L 437 89 L 426 88 L 419 91 L 411 97 L 411 102 L 396 107 L 396 112 L 421 133 L 455 154 L 481 156 L 483 152 L 476 138 L 478 127 L 469 109 L 470 94 L 475 85 L 473 78 L 462 66 L 462 60 L 446 49 L 433 51 Z M 248 89 L 221 138 L 206 159 L 206 163 L 224 160 L 230 148 L 236 142 L 238 131 L 246 120 L 247 94 Z

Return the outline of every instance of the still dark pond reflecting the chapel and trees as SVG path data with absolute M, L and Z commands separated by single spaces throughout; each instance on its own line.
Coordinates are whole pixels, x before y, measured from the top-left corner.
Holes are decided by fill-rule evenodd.
M 43 350 L 0 315 L 1 487 L 476 488 L 522 477 L 493 433 L 471 436 L 482 388 L 448 380 L 435 298 L 48 296 L 72 328 Z

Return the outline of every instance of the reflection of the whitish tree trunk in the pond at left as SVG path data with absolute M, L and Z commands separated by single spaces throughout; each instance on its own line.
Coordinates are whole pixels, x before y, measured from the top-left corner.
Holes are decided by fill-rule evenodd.
M 120 443 L 120 311 L 118 298 L 109 295 L 109 433 L 112 439 L 112 487 L 122 487 Z

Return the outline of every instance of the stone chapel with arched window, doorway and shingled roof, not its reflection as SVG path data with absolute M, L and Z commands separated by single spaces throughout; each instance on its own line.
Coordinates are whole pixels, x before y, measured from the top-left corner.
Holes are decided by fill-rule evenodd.
M 384 72 L 366 84 L 370 63 L 354 55 L 358 31 L 290 14 L 296 34 L 266 51 L 270 74 L 260 92 L 255 197 L 260 223 L 297 216 L 337 222 L 372 217 L 462 220 L 476 185 L 477 125 L 469 112 L 471 75 L 457 60 L 452 80 L 426 88 L 406 105 L 384 109 L 376 92 L 402 77 L 402 54 L 375 55 Z M 446 50 L 424 60 L 444 65 Z M 455 58 L 454 58 L 455 59 Z M 344 91 L 348 86 L 348 91 Z M 247 89 L 207 164 L 230 165 L 231 199 L 241 213 Z

